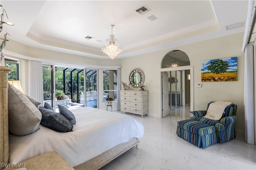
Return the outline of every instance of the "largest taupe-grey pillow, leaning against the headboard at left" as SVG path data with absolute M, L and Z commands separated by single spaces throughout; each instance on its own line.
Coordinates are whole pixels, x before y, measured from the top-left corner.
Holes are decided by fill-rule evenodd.
M 8 121 L 9 130 L 17 136 L 24 136 L 39 129 L 42 114 L 36 106 L 18 89 L 9 83 Z

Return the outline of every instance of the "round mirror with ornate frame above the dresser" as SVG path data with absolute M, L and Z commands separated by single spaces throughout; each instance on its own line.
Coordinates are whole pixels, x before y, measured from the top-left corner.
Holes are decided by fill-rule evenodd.
M 132 87 L 138 88 L 144 83 L 144 73 L 140 69 L 133 69 L 130 73 L 130 83 Z

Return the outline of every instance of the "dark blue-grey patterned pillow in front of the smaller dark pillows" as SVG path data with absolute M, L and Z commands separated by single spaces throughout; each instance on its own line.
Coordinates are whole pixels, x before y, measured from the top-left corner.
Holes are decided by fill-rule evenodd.
M 66 117 L 64 117 L 60 113 L 56 113 L 51 109 L 42 108 L 40 108 L 39 111 L 42 113 L 41 125 L 57 132 L 72 131 L 73 125 Z

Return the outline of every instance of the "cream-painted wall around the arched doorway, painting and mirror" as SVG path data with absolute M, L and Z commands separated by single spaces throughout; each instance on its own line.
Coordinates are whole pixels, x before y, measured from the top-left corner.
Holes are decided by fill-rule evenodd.
M 191 43 L 177 47 L 170 47 L 151 53 L 136 55 L 124 59 L 92 59 L 78 55 L 70 55 L 44 49 L 27 47 L 17 42 L 9 41 L 6 50 L 36 57 L 39 59 L 54 59 L 63 63 L 79 63 L 87 65 L 121 65 L 121 80 L 128 83 L 129 73 L 134 68 L 139 68 L 144 72 L 144 89 L 149 91 L 149 116 L 160 117 L 159 89 L 162 58 L 174 49 L 184 51 L 190 58 L 190 65 L 194 67 L 194 83 L 202 83 L 202 88 L 194 88 L 194 110 L 205 110 L 210 101 L 231 101 L 238 105 L 236 129 L 244 129 L 244 53 L 242 52 L 242 42 L 244 33 L 206 40 L 203 42 Z M 218 59 L 226 57 L 238 57 L 238 81 L 228 82 L 201 82 L 201 62 L 208 59 Z M 24 73 L 26 74 L 26 68 Z M 23 73 L 23 72 L 22 72 Z M 24 75 L 22 75 L 24 76 Z M 26 77 L 26 75 L 25 75 Z M 195 85 L 194 85 L 195 87 Z M 121 87 L 122 89 L 122 87 Z M 139 90 L 131 88 L 131 90 Z M 193 100 L 193 99 L 191 99 Z

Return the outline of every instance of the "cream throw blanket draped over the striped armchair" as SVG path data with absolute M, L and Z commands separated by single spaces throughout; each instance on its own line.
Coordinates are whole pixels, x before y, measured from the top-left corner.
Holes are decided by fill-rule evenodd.
M 212 119 L 214 121 L 220 120 L 224 110 L 227 106 L 231 105 L 231 102 L 225 101 L 216 101 L 209 105 L 208 110 L 206 112 L 205 118 Z

